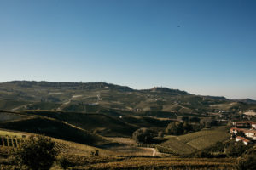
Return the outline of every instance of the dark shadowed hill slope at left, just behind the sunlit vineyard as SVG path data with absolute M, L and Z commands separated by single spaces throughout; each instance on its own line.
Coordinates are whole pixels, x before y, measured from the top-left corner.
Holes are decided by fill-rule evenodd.
M 17 114 L 22 116 L 23 114 Z M 44 134 L 49 137 L 73 141 L 80 144 L 105 144 L 108 143 L 100 135 L 90 133 L 83 128 L 75 127 L 67 122 L 61 122 L 46 116 L 27 116 L 12 121 L 0 122 L 0 128 L 22 131 L 26 133 Z

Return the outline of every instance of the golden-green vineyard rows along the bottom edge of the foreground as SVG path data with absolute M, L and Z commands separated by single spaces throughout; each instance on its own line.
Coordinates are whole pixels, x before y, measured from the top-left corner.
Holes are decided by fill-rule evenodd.
M 93 157 L 91 157 L 93 158 Z M 90 159 L 90 158 L 89 158 Z M 90 163 L 80 165 L 75 169 L 201 169 L 201 170 L 231 170 L 234 169 L 236 159 L 194 159 L 194 158 L 128 158 L 123 160 L 113 160 L 109 162 Z

